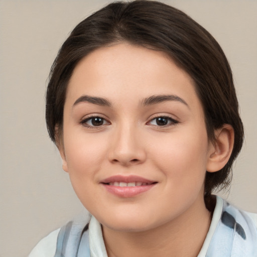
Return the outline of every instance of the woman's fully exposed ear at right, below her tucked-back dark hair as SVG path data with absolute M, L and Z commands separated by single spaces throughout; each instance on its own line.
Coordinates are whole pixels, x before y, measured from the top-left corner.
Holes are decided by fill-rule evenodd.
M 210 146 L 206 170 L 216 172 L 228 162 L 234 145 L 234 130 L 229 124 L 223 124 L 215 130 L 215 142 Z

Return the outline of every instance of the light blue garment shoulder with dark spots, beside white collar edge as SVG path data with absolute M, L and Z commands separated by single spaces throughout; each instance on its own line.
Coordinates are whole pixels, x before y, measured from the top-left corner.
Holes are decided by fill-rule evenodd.
M 214 233 L 208 241 L 207 254 L 200 256 L 257 256 L 257 215 L 240 210 L 220 197 L 216 199 Z

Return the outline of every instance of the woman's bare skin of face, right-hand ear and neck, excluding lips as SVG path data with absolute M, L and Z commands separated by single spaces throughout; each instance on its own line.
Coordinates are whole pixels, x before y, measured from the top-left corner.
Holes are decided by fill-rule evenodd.
M 81 100 L 84 95 L 111 106 Z M 179 98 L 144 105 L 156 95 Z M 92 116 L 102 123 L 93 125 Z M 70 79 L 62 133 L 63 169 L 102 224 L 108 256 L 197 256 L 211 217 L 205 173 L 225 165 L 232 129 L 217 131 L 216 145 L 208 141 L 203 108 L 184 70 L 162 52 L 126 43 L 90 53 Z M 113 175 L 156 183 L 120 197 L 101 184 Z

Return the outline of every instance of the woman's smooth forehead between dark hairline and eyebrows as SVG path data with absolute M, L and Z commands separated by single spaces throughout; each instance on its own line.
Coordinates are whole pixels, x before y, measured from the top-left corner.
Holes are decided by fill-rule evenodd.
M 199 104 L 193 79 L 166 53 L 125 43 L 97 49 L 78 63 L 66 101 L 74 103 L 83 94 L 114 102 L 174 94 Z

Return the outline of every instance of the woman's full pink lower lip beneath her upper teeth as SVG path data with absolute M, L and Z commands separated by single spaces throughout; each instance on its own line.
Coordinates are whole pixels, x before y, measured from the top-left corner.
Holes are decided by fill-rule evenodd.
M 133 197 L 137 196 L 141 193 L 144 193 L 151 188 L 153 188 L 156 184 L 150 184 L 145 186 L 135 186 L 135 187 L 118 187 L 118 186 L 111 186 L 107 184 L 102 184 L 105 189 L 119 197 Z

